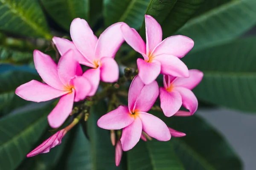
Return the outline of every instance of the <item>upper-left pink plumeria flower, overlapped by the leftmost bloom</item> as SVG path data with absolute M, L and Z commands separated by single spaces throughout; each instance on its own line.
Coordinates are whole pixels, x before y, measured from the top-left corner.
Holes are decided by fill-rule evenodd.
M 116 82 L 119 77 L 119 68 L 114 57 L 124 41 L 120 30 L 122 24 L 115 23 L 109 26 L 98 39 L 85 20 L 75 18 L 70 26 L 73 42 L 64 38 L 52 38 L 61 55 L 73 49 L 76 60 L 82 65 L 91 67 L 87 71 L 88 74 L 84 75 L 93 85 L 90 96 L 95 94 L 99 80 Z

